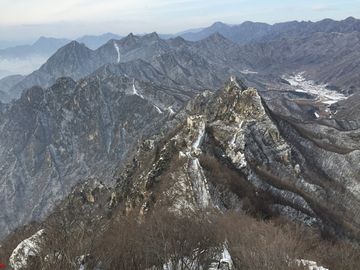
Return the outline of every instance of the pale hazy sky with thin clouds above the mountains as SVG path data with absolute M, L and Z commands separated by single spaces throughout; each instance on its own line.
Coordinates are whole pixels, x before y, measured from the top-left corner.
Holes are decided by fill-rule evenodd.
M 360 18 L 360 0 L 0 0 L 0 40 L 176 33 L 221 21 Z

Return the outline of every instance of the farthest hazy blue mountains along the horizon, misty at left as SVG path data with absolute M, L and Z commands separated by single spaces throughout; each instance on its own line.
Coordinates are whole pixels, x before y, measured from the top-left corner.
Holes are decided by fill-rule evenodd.
M 353 31 L 359 31 L 359 20 L 349 17 L 342 21 L 324 19 L 319 22 L 292 21 L 274 25 L 247 21 L 239 25 L 230 26 L 217 22 L 207 28 L 189 29 L 176 34 L 162 34 L 160 37 L 168 39 L 181 36 L 185 40 L 198 41 L 215 32 L 219 32 L 234 43 L 243 45 L 276 40 L 281 37 L 306 36 L 320 32 L 351 33 Z M 76 39 L 76 41 L 84 43 L 88 48 L 95 50 L 110 39 L 120 38 L 118 35 L 107 33 L 101 36 L 83 36 Z M 64 42 L 69 43 L 70 40 L 41 37 L 31 46 L 24 45 L 0 50 L 0 70 L 2 70 L 0 78 L 14 73 L 29 74 L 40 67 L 57 49 L 65 45 Z

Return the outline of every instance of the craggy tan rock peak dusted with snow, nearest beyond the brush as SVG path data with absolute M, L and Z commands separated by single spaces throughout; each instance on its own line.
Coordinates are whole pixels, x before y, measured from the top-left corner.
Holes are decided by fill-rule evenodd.
M 126 189 L 122 184 L 115 188 L 118 191 L 112 201 L 127 197 L 127 211 L 142 203 L 152 208 L 165 206 L 164 202 L 175 212 L 216 205 L 223 209 L 224 205 L 219 202 L 222 199 L 218 197 L 221 195 L 214 195 L 216 191 L 212 190 L 209 175 L 200 162 L 205 155 L 216 156 L 247 177 L 256 175 L 254 164 L 268 162 L 295 175 L 289 162 L 290 148 L 267 116 L 257 90 L 246 88 L 235 76 L 213 93 L 194 96 L 177 115 L 183 123 L 170 132 L 165 144 L 159 143 L 155 157 L 149 158 L 149 152 L 139 151 L 134 159 L 136 162 L 128 166 L 132 168 L 131 173 L 119 181 L 122 183 L 125 178 L 137 175 L 131 180 L 134 181 L 132 195 L 124 195 Z M 144 157 L 153 163 L 145 164 Z M 166 192 L 160 194 L 158 191 L 164 186 Z M 117 198 L 116 194 L 121 195 Z M 150 201 L 151 197 L 156 197 L 158 203 Z M 233 205 L 236 204 L 241 205 L 241 202 L 234 199 Z

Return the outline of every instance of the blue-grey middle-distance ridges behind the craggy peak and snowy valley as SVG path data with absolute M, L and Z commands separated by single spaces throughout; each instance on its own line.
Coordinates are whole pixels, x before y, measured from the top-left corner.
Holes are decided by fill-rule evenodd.
M 111 40 L 95 51 L 73 41 L 59 49 L 39 70 L 24 78 L 12 77 L 14 79 L 11 83 L 5 84 L 2 83 L 5 79 L 0 80 L 0 84 L 9 100 L 18 98 L 23 89 L 35 84 L 49 87 L 61 76 L 78 80 L 108 63 L 121 68 L 121 63 L 129 65 L 130 60 L 138 58 L 150 64 L 152 72 L 156 70 L 156 73 L 174 80 L 179 80 L 178 76 L 182 76 L 182 82 L 191 81 L 192 87 L 201 89 L 220 87 L 224 81 L 219 78 L 229 77 L 231 74 L 289 77 L 301 72 L 304 78 L 313 80 L 316 84 L 329 85 L 343 93 L 354 93 L 359 87 L 358 41 L 359 32 L 356 31 L 349 34 L 317 33 L 242 46 L 232 43 L 219 33 L 197 42 L 189 42 L 180 37 L 163 40 L 156 33 L 142 37 L 130 34 L 119 41 Z M 204 67 L 213 72 L 202 73 L 201 69 Z M 141 76 L 145 76 L 148 68 L 149 66 L 138 65 L 136 69 L 145 69 L 140 72 Z M 109 66 L 100 69 L 103 72 L 115 72 L 114 68 L 110 71 Z M 139 75 L 139 72 L 132 73 L 135 69 L 127 72 L 128 75 Z M 197 78 L 189 74 L 194 74 Z M 142 79 L 151 81 L 154 77 L 158 76 L 145 76 Z M 6 80 L 9 81 L 8 78 Z M 263 90 L 261 86 L 259 88 L 260 91 Z

